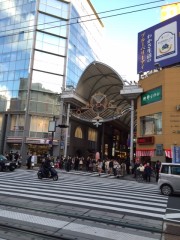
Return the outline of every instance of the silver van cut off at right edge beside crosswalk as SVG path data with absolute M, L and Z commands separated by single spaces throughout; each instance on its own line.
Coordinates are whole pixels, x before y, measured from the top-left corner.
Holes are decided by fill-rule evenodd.
M 162 163 L 158 186 L 163 195 L 169 196 L 173 193 L 180 193 L 180 164 Z

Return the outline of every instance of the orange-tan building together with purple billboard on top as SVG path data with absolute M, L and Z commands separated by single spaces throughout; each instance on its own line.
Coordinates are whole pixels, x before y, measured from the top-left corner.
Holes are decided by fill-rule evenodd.
M 180 15 L 138 35 L 136 157 L 180 162 Z

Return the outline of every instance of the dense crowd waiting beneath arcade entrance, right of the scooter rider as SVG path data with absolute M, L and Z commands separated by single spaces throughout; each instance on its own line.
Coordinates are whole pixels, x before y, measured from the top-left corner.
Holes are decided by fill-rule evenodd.
M 125 175 L 132 174 L 134 178 L 138 174 L 142 174 L 144 180 L 147 182 L 151 181 L 151 176 L 156 177 L 156 181 L 159 178 L 159 170 L 161 163 L 157 161 L 155 166 L 151 166 L 150 162 L 140 163 L 136 161 L 135 163 L 130 163 L 130 159 L 109 159 L 104 160 L 95 159 L 91 157 L 71 157 L 68 156 L 57 159 L 55 162 L 55 167 L 60 169 L 70 170 L 85 170 L 87 172 L 98 172 L 99 176 L 101 173 L 106 173 L 109 175 L 114 175 L 117 177 L 124 177 Z

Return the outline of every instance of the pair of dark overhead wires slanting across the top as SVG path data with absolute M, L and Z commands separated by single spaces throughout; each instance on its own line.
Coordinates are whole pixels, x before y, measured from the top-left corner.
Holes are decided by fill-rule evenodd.
M 132 5 L 132 6 L 127 6 L 127 7 L 123 7 L 123 8 L 118 8 L 118 9 L 112 9 L 112 10 L 108 10 L 108 11 L 103 11 L 103 12 L 98 12 L 97 15 L 100 15 L 100 14 L 104 14 L 104 13 L 109 13 L 109 12 L 114 12 L 114 11 L 119 11 L 119 10 L 124 10 L 124 9 L 128 9 L 128 8 L 133 8 L 133 7 L 139 7 L 139 6 L 142 6 L 142 5 L 148 5 L 148 4 L 152 4 L 152 3 L 157 3 L 157 2 L 162 2 L 162 1 L 165 1 L 165 0 L 158 0 L 158 1 L 153 1 L 153 2 L 149 2 L 149 3 L 142 3 L 142 4 L 136 4 L 136 5 Z M 65 26 L 68 26 L 68 25 L 73 25 L 73 24 L 77 24 L 77 23 L 84 23 L 84 22 L 89 22 L 89 21 L 95 21 L 95 20 L 101 20 L 101 19 L 105 19 L 105 18 L 110 18 L 110 17 L 116 17 L 116 16 L 121 16 L 121 15 L 125 15 L 125 14 L 131 14 L 131 13 L 135 13 L 135 12 L 140 12 L 140 11 L 146 11 L 146 10 L 151 10 L 151 9 L 154 9 L 154 8 L 159 8 L 159 7 L 162 7 L 162 5 L 160 6 L 154 6 L 154 7 L 149 7 L 149 8 L 144 8 L 144 9 L 137 9 L 137 10 L 133 10 L 133 11 L 129 11 L 129 12 L 123 12 L 123 13 L 117 13 L 117 14 L 113 14 L 113 15 L 108 15 L 108 16 L 102 16 L 102 17 L 97 17 L 94 18 L 94 19 L 86 19 L 86 20 L 79 20 L 81 18 L 84 18 L 84 17 L 90 17 L 90 16 L 95 16 L 95 14 L 89 14 L 89 15 L 84 15 L 84 16 L 78 16 L 78 17 L 74 17 L 74 18 L 70 18 L 68 20 L 72 21 L 72 20 L 77 20 L 76 22 L 70 22 L 70 23 L 66 23 L 66 24 L 63 24 L 61 26 L 50 26 L 50 27 L 45 27 L 43 29 L 38 29 L 39 31 L 43 31 L 43 30 L 46 30 L 46 29 L 51 29 L 51 28 L 57 28 L 57 27 L 65 27 Z M 60 19 L 59 19 L 60 20 Z M 57 20 L 57 21 L 53 21 L 53 22 L 45 22 L 45 23 L 40 23 L 40 24 L 37 24 L 37 25 L 32 25 L 32 26 L 27 26 L 27 27 L 21 27 L 21 28 L 15 28 L 15 29 L 10 29 L 10 30 L 6 30 L 6 31 L 1 31 L 2 32 L 8 32 L 8 31 L 14 31 L 14 30 L 21 30 L 23 31 L 24 33 L 28 33 L 28 32 L 34 32 L 35 31 L 35 27 L 39 27 L 41 25 L 46 25 L 46 24 L 53 24 L 53 23 L 60 23 L 60 21 Z M 61 19 L 62 20 L 62 19 Z M 63 21 L 66 21 L 66 20 L 63 20 Z M 25 21 L 26 22 L 26 21 Z M 29 21 L 28 21 L 29 22 Z M 11 26 L 11 25 L 8 25 L 8 26 Z M 33 29 L 29 29 L 30 27 L 33 27 Z M 23 29 L 28 29 L 28 30 L 23 30 Z M 11 34 L 6 34 L 4 36 L 1 36 L 1 37 L 8 37 L 8 36 L 14 36 L 14 35 L 18 35 L 19 32 L 15 32 L 15 33 L 11 33 Z

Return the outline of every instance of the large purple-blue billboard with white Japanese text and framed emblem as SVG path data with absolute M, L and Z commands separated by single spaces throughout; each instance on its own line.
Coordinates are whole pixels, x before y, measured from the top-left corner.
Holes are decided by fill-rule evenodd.
M 180 62 L 180 15 L 138 34 L 137 72 L 147 72 Z

